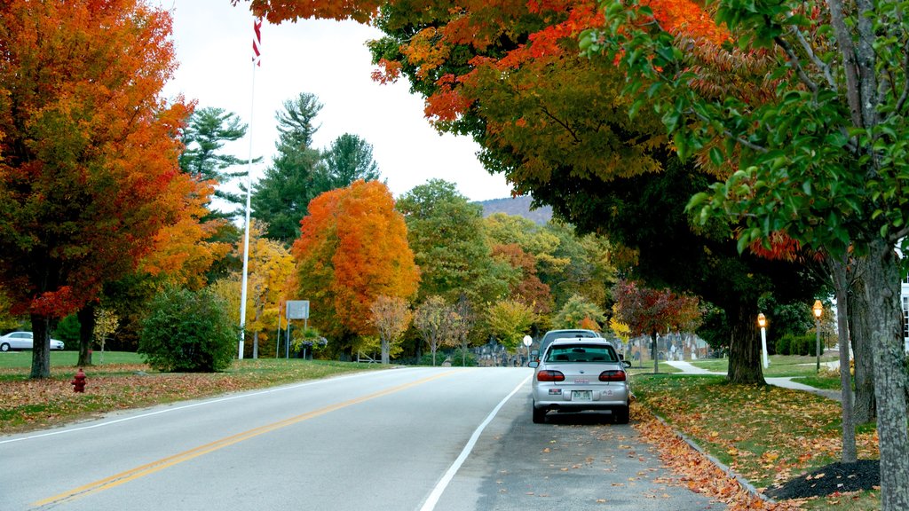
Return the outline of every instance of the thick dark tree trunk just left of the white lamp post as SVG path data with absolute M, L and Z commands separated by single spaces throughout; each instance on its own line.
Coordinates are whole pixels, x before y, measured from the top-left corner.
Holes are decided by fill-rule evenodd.
M 757 328 L 754 306 L 738 304 L 727 310 L 732 321 L 729 341 L 729 381 L 735 384 L 766 385 L 761 366 L 761 335 Z

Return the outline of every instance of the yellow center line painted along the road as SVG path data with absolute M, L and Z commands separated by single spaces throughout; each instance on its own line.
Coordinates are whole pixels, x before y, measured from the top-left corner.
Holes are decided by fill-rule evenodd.
M 71 501 L 74 501 L 75 499 L 81 498 L 83 496 L 89 496 L 89 495 L 104 491 L 106 489 L 113 488 L 115 486 L 120 486 L 120 485 L 127 483 L 129 481 L 132 481 L 134 479 L 138 479 L 139 477 L 154 474 L 155 472 L 157 472 L 159 470 L 164 470 L 168 466 L 175 466 L 175 465 L 183 463 L 185 461 L 189 461 L 195 457 L 203 456 L 205 454 L 214 452 L 218 449 L 223 449 L 226 446 L 233 446 L 234 444 L 243 442 L 244 440 L 248 440 L 255 436 L 264 435 L 265 433 L 275 431 L 276 429 L 281 429 L 282 427 L 291 426 L 296 423 L 303 422 L 305 420 L 309 420 L 309 419 L 317 417 L 317 416 L 324 416 L 325 414 L 334 412 L 335 410 L 340 410 L 341 408 L 345 408 L 347 406 L 364 403 L 365 401 L 375 399 L 376 397 L 388 396 L 389 394 L 395 394 L 396 392 L 400 392 L 402 390 L 405 390 L 405 389 L 408 389 L 408 388 L 411 388 L 414 386 L 423 385 L 427 382 L 435 380 L 436 378 L 441 378 L 442 376 L 451 375 L 454 372 L 455 371 L 448 371 L 448 372 L 441 373 L 441 374 L 438 374 L 435 376 L 428 376 L 423 379 L 419 379 L 419 380 L 416 380 L 416 381 L 413 381 L 410 383 L 406 383 L 404 385 L 393 386 L 391 388 L 387 388 L 385 390 L 376 392 L 374 394 L 370 394 L 368 396 L 356 397 L 355 399 L 350 399 L 348 401 L 344 401 L 342 403 L 337 403 L 337 404 L 331 405 L 331 406 L 325 406 L 324 408 L 319 408 L 318 410 L 314 410 L 312 412 L 306 412 L 305 414 L 301 414 L 299 416 L 289 417 L 289 418 L 286 418 L 284 420 L 281 420 L 281 421 L 278 421 L 278 422 L 275 422 L 272 424 L 254 427 L 253 429 L 244 431 L 242 433 L 237 433 L 236 435 L 226 436 L 225 438 L 222 438 L 220 440 L 215 440 L 215 442 L 205 444 L 204 446 L 198 446 L 198 447 L 189 449 L 188 451 L 184 451 L 182 453 L 176 454 L 174 456 L 167 456 L 167 457 L 161 458 L 157 461 L 147 463 L 143 466 L 136 466 L 135 468 L 131 468 L 131 469 L 121 472 L 119 474 L 115 474 L 114 476 L 105 477 L 104 479 L 98 479 L 97 481 L 95 481 L 93 483 L 89 483 L 84 486 L 79 486 L 79 487 L 73 488 L 71 490 L 65 491 L 64 493 L 61 493 L 61 494 L 58 494 L 55 496 L 49 496 L 49 497 L 45 498 L 44 500 L 39 500 L 39 501 L 33 503 L 32 506 L 40 507 L 40 506 L 46 506 L 48 504 L 53 504 L 53 503 L 71 502 Z

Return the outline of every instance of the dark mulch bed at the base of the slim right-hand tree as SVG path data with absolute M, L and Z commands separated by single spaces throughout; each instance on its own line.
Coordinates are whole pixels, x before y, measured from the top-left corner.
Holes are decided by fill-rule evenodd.
M 810 474 L 772 486 L 764 495 L 776 500 L 827 496 L 836 492 L 846 493 L 870 490 L 881 486 L 881 463 L 876 459 L 861 459 L 855 463 L 834 463 L 822 466 Z

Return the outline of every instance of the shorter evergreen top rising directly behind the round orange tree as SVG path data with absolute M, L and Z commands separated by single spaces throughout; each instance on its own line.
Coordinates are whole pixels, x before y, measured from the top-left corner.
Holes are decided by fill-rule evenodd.
M 315 195 L 350 186 L 358 179 L 375 181 L 378 165 L 373 160 L 373 146 L 357 135 L 345 133 L 332 142 L 322 155 L 322 165 L 316 169 L 313 186 Z

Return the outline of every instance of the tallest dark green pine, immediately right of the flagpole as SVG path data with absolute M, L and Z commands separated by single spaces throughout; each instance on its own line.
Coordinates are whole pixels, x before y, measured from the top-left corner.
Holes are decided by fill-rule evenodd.
M 313 179 L 322 155 L 313 148 L 322 110 L 315 95 L 302 93 L 284 103 L 278 121 L 277 155 L 254 188 L 253 216 L 268 225 L 266 236 L 290 245 L 300 235 L 300 220 L 315 195 Z

